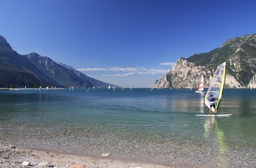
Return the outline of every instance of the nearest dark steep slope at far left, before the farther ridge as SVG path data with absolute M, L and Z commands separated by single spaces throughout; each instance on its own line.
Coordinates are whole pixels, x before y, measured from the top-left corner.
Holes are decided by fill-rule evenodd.
M 10 84 L 33 87 L 45 83 L 60 86 L 54 80 L 45 77 L 37 66 L 12 50 L 7 40 L 0 36 L 0 87 Z

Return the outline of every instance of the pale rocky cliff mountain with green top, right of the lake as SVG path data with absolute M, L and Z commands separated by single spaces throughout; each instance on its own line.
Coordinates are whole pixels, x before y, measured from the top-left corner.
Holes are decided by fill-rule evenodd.
M 225 88 L 256 88 L 256 34 L 227 39 L 208 53 L 179 58 L 155 88 L 197 88 L 203 75 L 208 87 L 219 64 L 227 63 Z

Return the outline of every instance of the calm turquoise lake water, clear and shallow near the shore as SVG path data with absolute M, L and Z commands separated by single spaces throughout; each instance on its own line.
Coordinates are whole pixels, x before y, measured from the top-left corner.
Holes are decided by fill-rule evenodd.
M 256 90 L 225 89 L 221 113 L 187 89 L 0 91 L 0 142 L 118 159 L 252 167 Z

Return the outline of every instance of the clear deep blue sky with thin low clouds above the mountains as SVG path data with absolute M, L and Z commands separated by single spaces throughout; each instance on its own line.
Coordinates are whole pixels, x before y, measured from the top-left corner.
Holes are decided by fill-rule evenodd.
M 178 58 L 256 33 L 256 1 L 0 0 L 0 35 L 124 87 L 150 87 Z

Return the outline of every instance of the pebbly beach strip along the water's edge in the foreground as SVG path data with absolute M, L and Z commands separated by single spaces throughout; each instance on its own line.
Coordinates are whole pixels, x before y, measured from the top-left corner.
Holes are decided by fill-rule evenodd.
M 1 167 L 56 167 L 56 168 L 184 168 L 184 167 L 207 167 L 195 166 L 182 163 L 162 165 L 146 161 L 135 161 L 115 159 L 108 153 L 102 156 L 84 156 L 76 153 L 61 153 L 51 150 L 39 150 L 31 148 L 16 147 L 13 145 L 0 145 Z

